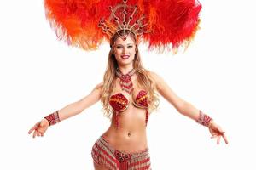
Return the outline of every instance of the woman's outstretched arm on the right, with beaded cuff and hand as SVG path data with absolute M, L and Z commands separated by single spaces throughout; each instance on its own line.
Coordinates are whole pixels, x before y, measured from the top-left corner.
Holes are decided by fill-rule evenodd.
M 163 98 L 165 98 L 169 103 L 171 103 L 179 113 L 184 116 L 188 116 L 196 122 L 199 122 L 202 125 L 208 127 L 210 133 L 212 134 L 211 138 L 217 138 L 217 144 L 219 144 L 221 137 L 223 137 L 225 143 L 228 144 L 228 140 L 224 134 L 224 131 L 220 126 L 218 126 L 216 122 L 212 120 L 211 117 L 196 109 L 194 105 L 191 105 L 189 102 L 178 97 L 162 77 L 152 71 L 150 71 L 150 76 L 154 79 L 156 88 L 160 95 L 163 96 Z

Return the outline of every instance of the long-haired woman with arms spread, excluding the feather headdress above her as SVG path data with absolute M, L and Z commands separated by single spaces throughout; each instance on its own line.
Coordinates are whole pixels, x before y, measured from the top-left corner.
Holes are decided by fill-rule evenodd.
M 110 38 L 111 49 L 103 82 L 84 99 L 36 123 L 29 130 L 33 138 L 44 136 L 49 126 L 75 116 L 101 100 L 105 115 L 111 117 L 112 122 L 92 148 L 95 169 L 150 169 L 146 127 L 150 113 L 158 106 L 159 93 L 178 112 L 208 127 L 218 144 L 221 137 L 227 144 L 224 131 L 211 117 L 179 98 L 156 73 L 143 68 L 137 46 L 137 34 L 131 28 L 124 26 L 115 31 Z

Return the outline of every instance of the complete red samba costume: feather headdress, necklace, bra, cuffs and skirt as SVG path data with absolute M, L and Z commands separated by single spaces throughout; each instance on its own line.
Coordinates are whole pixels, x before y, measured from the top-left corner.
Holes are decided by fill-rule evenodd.
M 201 11 L 201 3 L 196 0 L 44 0 L 44 6 L 46 18 L 59 40 L 84 50 L 95 50 L 119 31 L 129 31 L 135 35 L 137 43 L 148 42 L 148 49 L 175 52 L 181 45 L 188 46 L 195 36 Z M 127 36 L 119 37 L 125 41 Z M 133 92 L 131 76 L 134 72 L 132 70 L 126 75 L 119 70 L 116 72 L 122 90 L 128 94 Z M 130 102 L 145 109 L 147 126 L 147 94 L 147 91 L 140 90 L 134 101 L 129 101 L 122 93 L 110 96 L 109 105 L 117 129 L 121 126 L 119 114 L 128 108 Z M 48 117 L 55 118 L 56 114 Z M 210 120 L 201 112 L 197 122 L 208 126 Z M 96 140 L 91 155 L 96 164 L 111 170 L 150 169 L 148 149 L 125 153 L 115 150 L 103 136 Z

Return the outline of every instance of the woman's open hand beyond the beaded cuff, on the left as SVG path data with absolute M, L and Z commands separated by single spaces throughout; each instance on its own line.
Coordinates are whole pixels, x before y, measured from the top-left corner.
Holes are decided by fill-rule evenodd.
M 36 136 L 44 136 L 45 131 L 47 130 L 47 128 L 49 127 L 49 122 L 46 119 L 43 119 L 40 122 L 37 122 L 29 131 L 28 133 L 33 133 L 33 138 L 35 138 Z

